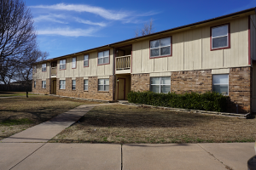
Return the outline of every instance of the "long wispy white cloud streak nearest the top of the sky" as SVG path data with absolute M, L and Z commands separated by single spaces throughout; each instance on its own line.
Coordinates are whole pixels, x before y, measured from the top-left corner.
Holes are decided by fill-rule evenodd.
M 107 10 L 105 8 L 94 7 L 85 4 L 65 4 L 65 3 L 58 3 L 55 5 L 37 5 L 37 6 L 30 6 L 31 8 L 48 8 L 48 9 L 55 9 L 55 10 L 67 10 L 67 11 L 76 11 L 76 12 L 88 12 L 92 14 L 98 14 L 107 20 L 123 20 L 129 14 L 121 13 L 117 11 Z

